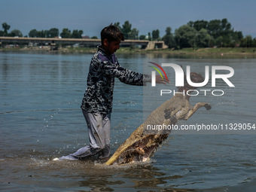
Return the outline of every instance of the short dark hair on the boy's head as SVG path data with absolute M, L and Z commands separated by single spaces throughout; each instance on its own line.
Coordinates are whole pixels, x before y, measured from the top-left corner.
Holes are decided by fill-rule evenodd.
M 120 32 L 120 30 L 112 24 L 102 29 L 102 32 L 100 32 L 100 36 L 102 39 L 102 44 L 105 38 L 108 40 L 108 42 L 124 40 L 123 33 Z

